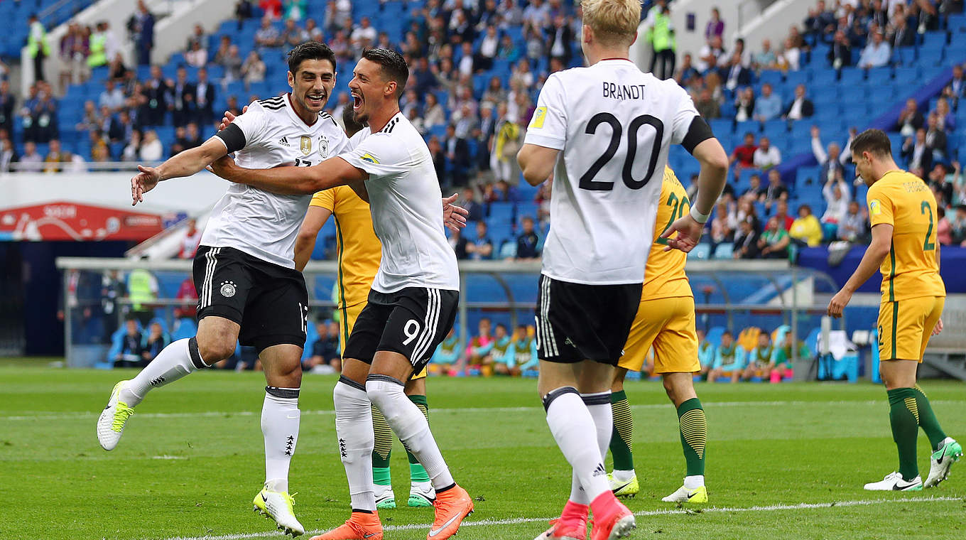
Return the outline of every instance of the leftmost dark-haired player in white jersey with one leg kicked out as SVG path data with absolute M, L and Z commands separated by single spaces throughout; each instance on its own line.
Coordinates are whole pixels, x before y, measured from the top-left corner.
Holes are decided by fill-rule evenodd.
M 309 167 L 343 152 L 345 133 L 322 112 L 335 86 L 335 55 L 326 44 L 302 43 L 289 52 L 288 64 L 290 94 L 253 101 L 231 126 L 157 168 L 138 166 L 140 173 L 131 179 L 134 204 L 157 183 L 193 175 L 229 153 L 250 167 Z M 266 479 L 254 505 L 293 535 L 304 533 L 288 476 L 298 443 L 308 311 L 305 280 L 293 256 L 310 199 L 248 185 L 228 188 L 213 208 L 194 260 L 198 333 L 168 345 L 136 377 L 114 386 L 98 420 L 100 445 L 111 450 L 149 390 L 228 358 L 238 341 L 255 347 L 268 385 L 262 407 Z

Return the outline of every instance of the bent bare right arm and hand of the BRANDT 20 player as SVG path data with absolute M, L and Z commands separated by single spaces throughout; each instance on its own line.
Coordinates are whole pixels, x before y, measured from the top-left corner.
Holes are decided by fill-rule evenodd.
M 701 164 L 697 175 L 697 193 L 691 205 L 691 213 L 681 216 L 670 224 L 661 238 L 668 239 L 665 250 L 680 249 L 685 253 L 694 249 L 701 240 L 701 232 L 715 201 L 721 196 L 727 180 L 728 158 L 718 139 L 711 137 L 695 146 L 692 155 Z M 675 238 L 670 238 L 677 232 Z

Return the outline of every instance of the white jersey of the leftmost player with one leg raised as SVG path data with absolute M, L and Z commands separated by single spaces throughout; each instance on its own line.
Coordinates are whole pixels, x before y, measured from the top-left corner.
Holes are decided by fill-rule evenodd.
M 310 167 L 336 156 L 348 144 L 345 132 L 327 113 L 307 126 L 289 95 L 252 101 L 233 123 L 244 133 L 235 160 L 246 169 L 282 165 Z M 295 244 L 312 195 L 279 195 L 233 184 L 215 203 L 201 236 L 202 245 L 234 247 L 269 263 L 294 269 Z

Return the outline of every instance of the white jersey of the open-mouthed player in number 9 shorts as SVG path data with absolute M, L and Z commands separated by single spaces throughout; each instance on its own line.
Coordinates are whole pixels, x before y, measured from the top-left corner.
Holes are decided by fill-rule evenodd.
M 397 113 L 381 131 L 363 128 L 353 144 L 339 157 L 369 173 L 365 187 L 372 228 L 383 243 L 372 288 L 380 293 L 406 287 L 459 291 L 456 254 L 442 224 L 440 181 L 422 136 Z

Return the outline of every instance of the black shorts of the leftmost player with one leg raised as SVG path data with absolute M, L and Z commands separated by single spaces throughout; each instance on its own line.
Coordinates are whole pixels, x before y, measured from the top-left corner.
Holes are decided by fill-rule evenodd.
M 233 247 L 202 245 L 194 257 L 198 320 L 214 315 L 241 325 L 241 345 L 305 346 L 308 291 L 300 271 Z

